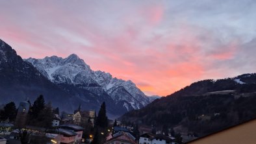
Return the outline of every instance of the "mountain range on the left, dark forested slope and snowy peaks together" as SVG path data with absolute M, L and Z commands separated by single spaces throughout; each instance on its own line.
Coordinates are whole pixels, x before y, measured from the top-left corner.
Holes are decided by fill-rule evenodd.
M 1 103 L 34 101 L 40 94 L 62 110 L 73 112 L 99 109 L 103 101 L 110 117 L 139 109 L 159 97 L 147 97 L 131 80 L 113 78 L 110 73 L 93 71 L 76 54 L 67 58 L 46 56 L 22 59 L 0 40 Z

